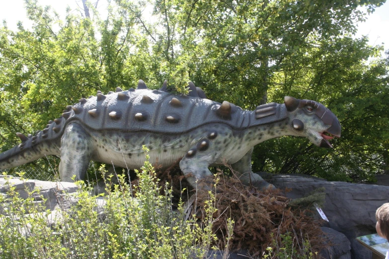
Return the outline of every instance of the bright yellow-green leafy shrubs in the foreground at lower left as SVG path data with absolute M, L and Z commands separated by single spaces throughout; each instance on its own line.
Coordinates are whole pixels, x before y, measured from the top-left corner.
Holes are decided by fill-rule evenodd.
M 171 191 L 165 188 L 165 195 L 159 194 L 147 148 L 144 151 L 135 195 L 120 175 L 119 185 L 114 191 L 107 188 L 99 202 L 91 188 L 78 182 L 79 192 L 73 196 L 78 202 L 69 209 L 45 211 L 34 202 L 36 196 L 45 200 L 39 190 L 26 186 L 28 198 L 23 199 L 6 178 L 9 191 L 0 196 L 0 258 L 204 258 L 215 239 L 215 197 L 209 196 L 203 226 L 196 215 L 185 220 L 184 204 L 173 211 Z M 104 174 L 104 166 L 100 171 Z M 52 217 L 57 218 L 55 224 L 49 224 Z

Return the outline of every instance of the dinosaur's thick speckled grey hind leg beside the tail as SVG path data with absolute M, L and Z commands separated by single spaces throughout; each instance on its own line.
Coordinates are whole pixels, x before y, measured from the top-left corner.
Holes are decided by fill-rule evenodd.
M 80 125 L 69 124 L 61 139 L 61 181 L 73 182 L 73 175 L 76 175 L 76 181 L 83 180 L 92 150 L 90 135 Z

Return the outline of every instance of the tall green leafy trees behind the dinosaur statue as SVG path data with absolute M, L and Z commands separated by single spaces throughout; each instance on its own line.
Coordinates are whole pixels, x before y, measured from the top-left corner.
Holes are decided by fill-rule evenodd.
M 0 27 L 0 144 L 17 143 L 80 97 L 164 79 L 185 92 L 192 80 L 215 101 L 244 109 L 317 100 L 342 125 L 334 149 L 280 138 L 254 150 L 253 169 L 305 173 L 328 180 L 374 180 L 389 165 L 389 56 L 367 38 L 352 38 L 355 21 L 384 0 L 114 0 L 106 19 L 25 0 L 33 28 Z M 153 19 L 145 10 L 153 8 Z M 387 54 L 388 55 L 388 54 Z

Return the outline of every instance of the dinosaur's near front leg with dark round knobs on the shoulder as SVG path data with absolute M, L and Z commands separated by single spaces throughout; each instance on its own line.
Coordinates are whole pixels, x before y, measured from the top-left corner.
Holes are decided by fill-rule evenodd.
M 220 152 L 214 149 L 213 142 L 207 139 L 200 140 L 196 146 L 189 149 L 180 161 L 180 169 L 188 176 L 186 179 L 193 188 L 207 188 L 210 183 L 207 179 L 212 177 L 208 167 L 215 163 L 219 156 Z

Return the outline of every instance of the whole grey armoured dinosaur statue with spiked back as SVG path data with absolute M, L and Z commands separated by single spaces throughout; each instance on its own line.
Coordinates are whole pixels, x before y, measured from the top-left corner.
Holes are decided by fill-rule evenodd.
M 206 99 L 189 83 L 188 95 L 172 95 L 167 82 L 150 90 L 139 80 L 137 89 L 81 98 L 62 116 L 49 121 L 34 136 L 16 133 L 21 144 L 0 154 L 0 169 L 22 165 L 45 155 L 61 156 L 62 181 L 83 179 L 90 160 L 139 169 L 145 160 L 142 145 L 150 149 L 151 163 L 167 168 L 179 165 L 192 186 L 212 175 L 208 167 L 228 163 L 243 184 L 271 187 L 251 171 L 253 147 L 283 135 L 304 136 L 320 147 L 340 137 L 336 116 L 322 104 L 286 96 L 284 104 L 268 103 L 244 111 L 227 101 Z

